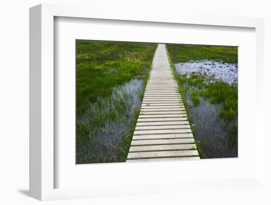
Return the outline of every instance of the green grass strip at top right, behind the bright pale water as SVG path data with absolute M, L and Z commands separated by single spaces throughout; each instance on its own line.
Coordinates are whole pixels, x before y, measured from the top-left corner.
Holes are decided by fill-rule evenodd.
M 173 63 L 212 60 L 237 64 L 236 46 L 167 44 L 167 49 Z

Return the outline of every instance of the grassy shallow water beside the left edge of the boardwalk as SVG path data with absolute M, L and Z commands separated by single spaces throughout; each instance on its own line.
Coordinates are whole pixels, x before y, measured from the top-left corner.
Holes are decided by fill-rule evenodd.
M 100 98 L 97 102 L 89 103 L 83 117 L 77 119 L 77 123 L 87 129 L 89 136 L 85 142 L 86 147 L 77 149 L 77 157 L 95 156 L 97 162 L 116 160 L 124 137 L 128 137 L 132 129 L 135 110 L 140 110 L 142 90 L 143 80 L 132 79 L 113 88 L 109 98 Z M 89 163 L 96 163 L 96 160 Z

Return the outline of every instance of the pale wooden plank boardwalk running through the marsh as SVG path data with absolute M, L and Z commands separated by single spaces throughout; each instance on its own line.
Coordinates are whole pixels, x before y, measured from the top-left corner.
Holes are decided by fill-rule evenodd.
M 153 59 L 126 162 L 200 159 L 165 44 Z

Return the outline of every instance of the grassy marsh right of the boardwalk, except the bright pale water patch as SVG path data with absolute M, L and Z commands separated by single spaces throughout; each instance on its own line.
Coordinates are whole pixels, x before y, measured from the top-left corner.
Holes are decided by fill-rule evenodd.
M 237 157 L 237 84 L 204 73 L 180 75 L 172 63 L 204 59 L 237 63 L 237 47 L 167 44 L 167 50 L 200 157 Z

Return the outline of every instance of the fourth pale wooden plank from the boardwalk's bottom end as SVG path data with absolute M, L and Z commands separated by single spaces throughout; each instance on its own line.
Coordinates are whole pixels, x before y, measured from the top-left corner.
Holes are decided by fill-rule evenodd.
M 131 146 L 159 145 L 159 144 L 193 144 L 194 138 L 144 139 L 132 140 Z

